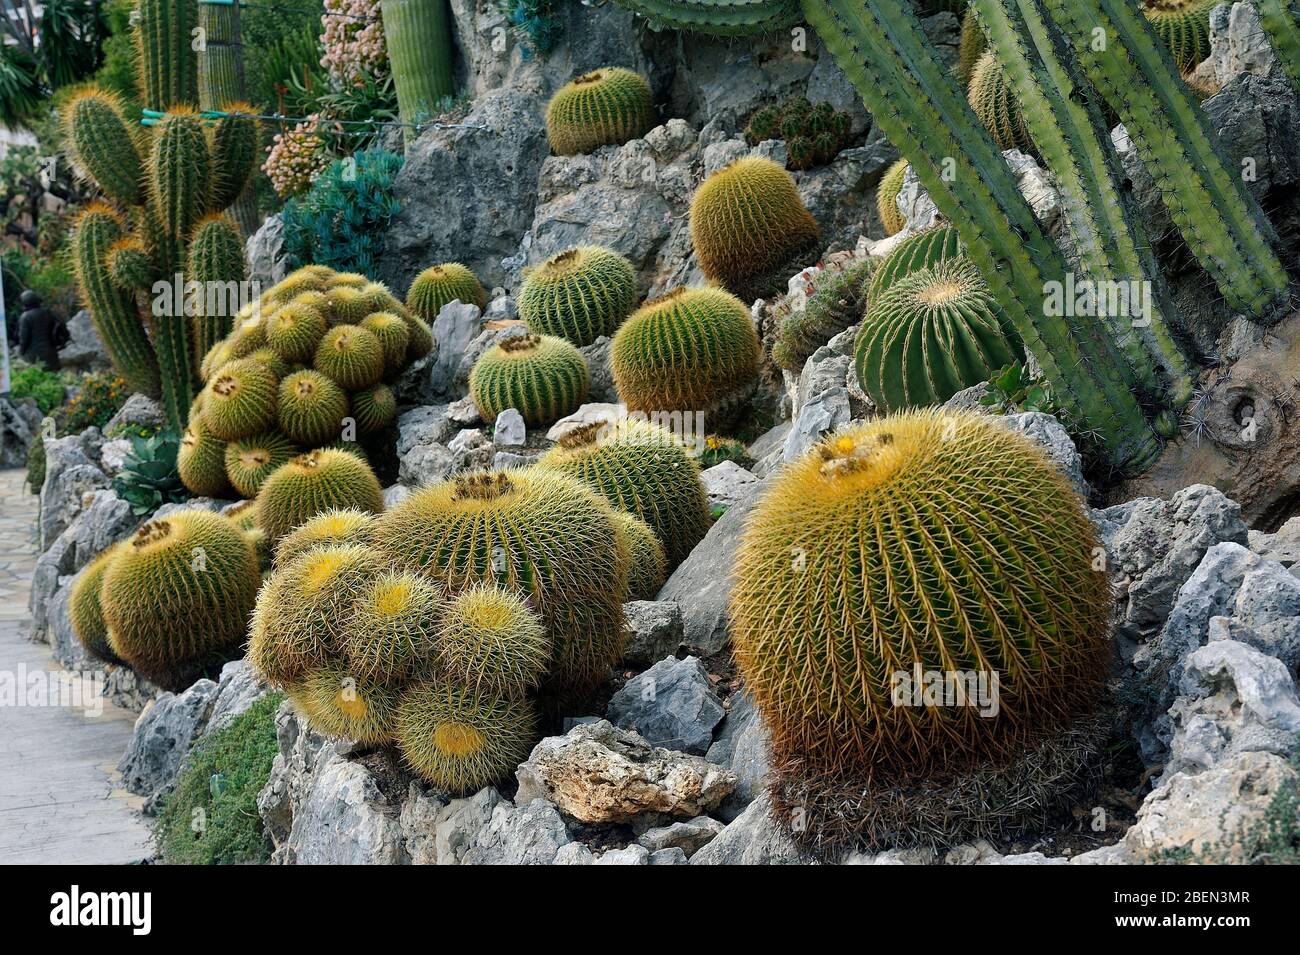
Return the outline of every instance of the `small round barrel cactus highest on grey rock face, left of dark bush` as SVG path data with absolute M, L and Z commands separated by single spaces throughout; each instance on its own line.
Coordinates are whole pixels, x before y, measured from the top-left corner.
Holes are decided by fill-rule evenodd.
M 575 77 L 546 104 L 546 138 L 556 156 L 621 146 L 649 133 L 656 121 L 650 84 L 621 66 Z

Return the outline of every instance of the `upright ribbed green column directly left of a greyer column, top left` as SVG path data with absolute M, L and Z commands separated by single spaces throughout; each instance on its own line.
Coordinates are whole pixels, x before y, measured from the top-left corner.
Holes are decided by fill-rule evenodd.
M 140 99 L 147 109 L 170 109 L 199 99 L 194 31 L 199 5 L 187 0 L 139 0 L 135 52 Z

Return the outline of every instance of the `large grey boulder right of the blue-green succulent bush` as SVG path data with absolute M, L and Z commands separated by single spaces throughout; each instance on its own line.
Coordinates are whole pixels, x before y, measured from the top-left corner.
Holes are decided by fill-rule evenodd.
M 389 222 L 381 281 L 407 288 L 429 262 L 456 260 L 489 287 L 502 283 L 500 260 L 533 220 L 549 152 L 543 108 L 536 92 L 491 90 L 455 129 L 411 143 L 393 187 L 402 210 Z

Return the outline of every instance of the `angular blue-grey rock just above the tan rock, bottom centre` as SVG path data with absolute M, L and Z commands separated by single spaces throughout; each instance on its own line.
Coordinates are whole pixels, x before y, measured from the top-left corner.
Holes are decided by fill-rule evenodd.
M 610 721 L 634 729 L 653 746 L 703 755 L 725 711 L 698 657 L 670 656 L 614 694 Z

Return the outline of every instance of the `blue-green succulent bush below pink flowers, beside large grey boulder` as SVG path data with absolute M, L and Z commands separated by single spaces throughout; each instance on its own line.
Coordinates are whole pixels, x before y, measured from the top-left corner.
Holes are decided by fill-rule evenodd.
M 402 157 L 365 149 L 335 160 L 307 195 L 285 204 L 285 252 L 294 264 L 370 273 L 389 220 L 400 209 L 393 181 Z

